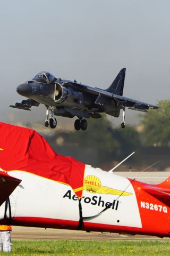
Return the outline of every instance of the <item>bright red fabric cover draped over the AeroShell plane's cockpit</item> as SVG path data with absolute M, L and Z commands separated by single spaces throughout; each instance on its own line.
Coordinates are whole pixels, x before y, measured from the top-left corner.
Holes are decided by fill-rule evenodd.
M 34 130 L 0 122 L 0 134 L 0 169 L 25 171 L 64 183 L 82 197 L 84 164 L 56 154 Z

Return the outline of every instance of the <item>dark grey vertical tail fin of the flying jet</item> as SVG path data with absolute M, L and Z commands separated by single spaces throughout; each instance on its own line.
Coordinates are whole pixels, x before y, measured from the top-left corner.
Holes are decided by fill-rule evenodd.
M 116 76 L 111 86 L 108 87 L 105 91 L 111 92 L 117 95 L 123 95 L 124 87 L 124 78 L 125 78 L 126 69 L 121 69 L 120 73 Z

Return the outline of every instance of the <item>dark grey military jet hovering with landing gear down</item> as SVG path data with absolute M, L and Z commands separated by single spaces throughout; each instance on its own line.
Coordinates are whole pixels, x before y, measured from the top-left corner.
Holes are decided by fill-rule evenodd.
M 157 106 L 149 103 L 123 97 L 125 79 L 123 68 L 116 76 L 111 86 L 103 90 L 93 88 L 77 81 L 69 81 L 56 78 L 52 74 L 42 71 L 30 81 L 20 84 L 16 91 L 29 99 L 21 103 L 10 105 L 12 108 L 30 110 L 32 106 L 38 107 L 40 103 L 47 108 L 45 126 L 55 128 L 56 116 L 74 117 L 75 130 L 86 130 L 87 121 L 83 118 L 100 118 L 100 113 L 118 117 L 120 109 L 123 109 L 123 121 L 121 127 L 125 127 L 125 108 L 147 112 L 149 108 L 157 109 Z

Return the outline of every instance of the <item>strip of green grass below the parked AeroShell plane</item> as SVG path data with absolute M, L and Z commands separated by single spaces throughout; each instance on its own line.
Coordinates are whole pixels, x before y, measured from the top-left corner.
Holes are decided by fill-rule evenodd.
M 113 256 L 169 256 L 168 241 L 13 241 L 11 253 L 0 255 L 113 255 Z

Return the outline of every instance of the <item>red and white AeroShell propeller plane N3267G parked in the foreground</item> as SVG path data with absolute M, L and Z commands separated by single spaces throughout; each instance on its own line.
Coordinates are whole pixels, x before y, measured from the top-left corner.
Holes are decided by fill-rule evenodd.
M 0 224 L 169 237 L 170 177 L 150 185 L 57 155 L 0 122 Z

